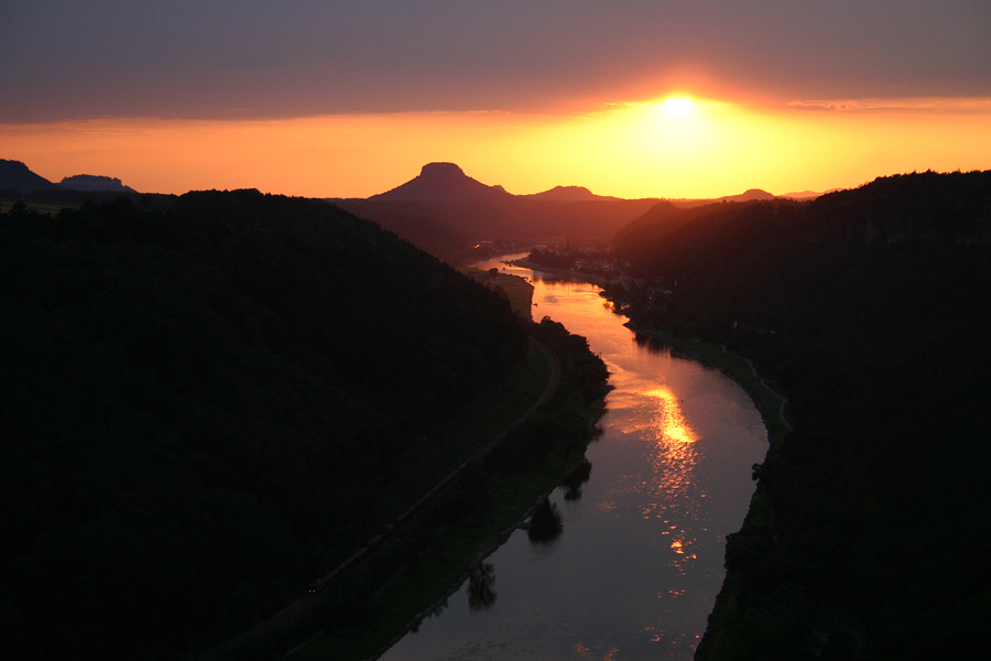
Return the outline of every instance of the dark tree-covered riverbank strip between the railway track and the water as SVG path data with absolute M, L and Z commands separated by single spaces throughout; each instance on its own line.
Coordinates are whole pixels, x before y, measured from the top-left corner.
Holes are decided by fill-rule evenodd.
M 556 333 L 544 325 L 538 330 L 542 340 L 552 345 Z M 315 614 L 315 624 L 323 622 L 323 633 L 294 649 L 288 658 L 359 660 L 379 655 L 443 609 L 446 598 L 480 559 L 498 548 L 530 516 L 534 503 L 574 472 L 602 404 L 600 399 L 589 401 L 585 386 L 576 380 L 575 364 L 582 358 L 562 346 L 556 347 L 556 356 L 544 355 L 551 392 L 545 390 L 537 403 L 549 398 L 547 405 L 536 412 L 531 409 L 529 423 L 515 425 L 500 435 L 504 440 L 490 443 L 449 491 L 427 503 L 364 566 L 349 572 L 347 581 L 331 588 L 349 595 L 347 607 L 325 607 Z M 553 386 L 558 360 L 560 388 Z M 574 427 L 578 419 L 584 437 L 547 444 L 544 430 Z M 260 651 L 262 654 L 252 658 L 262 658 L 264 650 Z

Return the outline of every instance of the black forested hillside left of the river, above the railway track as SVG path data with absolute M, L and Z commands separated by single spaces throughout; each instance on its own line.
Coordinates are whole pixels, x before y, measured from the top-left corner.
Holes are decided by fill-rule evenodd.
M 0 215 L 10 658 L 242 632 L 380 530 L 382 487 L 525 353 L 503 299 L 326 203 L 161 202 Z

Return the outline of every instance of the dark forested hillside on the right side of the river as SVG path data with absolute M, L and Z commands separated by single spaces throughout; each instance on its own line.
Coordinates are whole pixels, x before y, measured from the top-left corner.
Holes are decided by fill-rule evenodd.
M 991 172 L 662 208 L 618 238 L 633 318 L 784 386 L 697 659 L 961 655 L 991 608 Z

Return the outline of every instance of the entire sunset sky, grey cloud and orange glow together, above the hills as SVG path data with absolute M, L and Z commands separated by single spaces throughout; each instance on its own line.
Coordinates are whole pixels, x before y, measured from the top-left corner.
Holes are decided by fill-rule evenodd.
M 0 158 L 139 191 L 853 187 L 991 169 L 991 0 L 3 0 Z

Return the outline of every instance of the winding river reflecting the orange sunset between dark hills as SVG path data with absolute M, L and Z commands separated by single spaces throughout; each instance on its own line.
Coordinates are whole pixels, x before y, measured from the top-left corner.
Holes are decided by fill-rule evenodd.
M 766 452 L 759 412 L 720 371 L 638 340 L 598 286 L 478 266 L 527 278 L 534 318 L 587 337 L 614 389 L 586 452 L 587 481 L 549 497 L 559 534 L 513 532 L 381 659 L 690 659 L 722 583 L 726 535 L 750 503 L 751 466 Z

